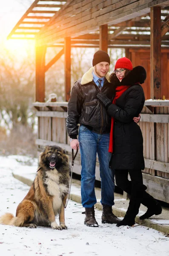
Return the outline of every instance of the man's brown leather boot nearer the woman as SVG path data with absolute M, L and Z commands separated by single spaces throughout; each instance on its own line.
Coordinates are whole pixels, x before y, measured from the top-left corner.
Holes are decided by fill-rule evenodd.
M 108 205 L 103 205 L 103 213 L 102 213 L 101 219 L 102 219 L 102 223 L 110 223 L 110 224 L 117 224 L 120 221 L 120 219 L 113 214 L 112 207 Z

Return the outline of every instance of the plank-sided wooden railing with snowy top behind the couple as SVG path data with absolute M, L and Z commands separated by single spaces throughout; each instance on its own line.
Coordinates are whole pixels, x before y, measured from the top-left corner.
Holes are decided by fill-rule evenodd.
M 67 102 L 35 102 L 38 116 L 39 150 L 45 145 L 59 145 L 71 158 L 69 137 L 66 133 Z M 147 191 L 158 200 L 169 203 L 169 100 L 147 100 L 139 122 L 143 133 L 143 153 L 146 168 L 143 181 Z M 80 174 L 80 153 L 74 163 L 74 172 Z M 96 163 L 96 180 L 100 180 Z

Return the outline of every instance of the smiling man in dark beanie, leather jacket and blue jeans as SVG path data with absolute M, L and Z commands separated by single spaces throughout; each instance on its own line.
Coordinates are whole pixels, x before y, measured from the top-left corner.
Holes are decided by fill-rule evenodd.
M 84 224 L 98 227 L 95 219 L 95 166 L 96 154 L 100 164 L 101 204 L 103 205 L 102 223 L 117 224 L 119 219 L 113 214 L 114 205 L 114 170 L 109 168 L 111 154 L 109 149 L 109 132 L 111 118 L 97 99 L 97 93 L 104 93 L 109 99 L 115 96 L 115 87 L 110 83 L 109 55 L 104 51 L 94 54 L 93 67 L 82 79 L 75 82 L 68 102 L 66 120 L 70 145 L 73 149 L 80 146 L 81 154 L 81 198 L 85 207 Z M 79 136 L 78 135 L 78 124 Z

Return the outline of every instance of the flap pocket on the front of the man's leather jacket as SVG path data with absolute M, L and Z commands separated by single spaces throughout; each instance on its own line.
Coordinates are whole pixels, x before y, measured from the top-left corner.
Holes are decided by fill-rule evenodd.
M 87 125 L 95 125 L 99 116 L 99 101 L 86 102 L 83 104 L 83 123 Z

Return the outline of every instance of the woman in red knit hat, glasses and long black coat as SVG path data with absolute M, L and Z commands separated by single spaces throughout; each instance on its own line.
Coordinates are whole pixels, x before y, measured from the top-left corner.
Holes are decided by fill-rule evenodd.
M 143 109 L 145 97 L 140 84 L 146 79 L 146 70 L 141 66 L 133 68 L 132 62 L 124 57 L 117 60 L 110 78 L 116 86 L 113 102 L 102 93 L 97 97 L 112 116 L 109 152 L 112 152 L 110 166 L 115 169 L 116 184 L 131 195 L 126 215 L 117 227 L 132 226 L 141 203 L 148 209 L 140 219 L 162 212 L 160 204 L 145 192 L 141 171 L 144 169 L 143 137 L 140 127 L 133 122 L 133 117 Z

